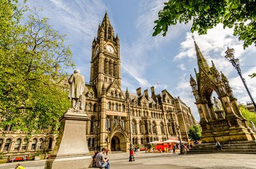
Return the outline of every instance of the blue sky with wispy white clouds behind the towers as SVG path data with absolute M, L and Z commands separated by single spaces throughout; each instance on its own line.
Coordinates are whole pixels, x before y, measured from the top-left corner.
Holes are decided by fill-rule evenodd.
M 39 15 L 49 18 L 52 28 L 60 34 L 67 34 L 66 44 L 71 45 L 75 65 L 86 82 L 90 77 L 92 41 L 107 10 L 111 25 L 120 39 L 123 90 L 128 87 L 130 92 L 135 93 L 136 88 L 141 87 L 150 91 L 154 85 L 158 93 L 166 88 L 173 96 L 180 96 L 199 120 L 189 86 L 189 75 L 195 77 L 194 68 L 197 68 L 195 47 L 189 33 L 191 23 L 170 27 L 165 37 L 152 37 L 157 12 L 165 1 L 29 0 L 28 6 L 42 8 Z M 235 49 L 246 83 L 256 99 L 256 78 L 247 76 L 256 72 L 256 47 L 243 50 L 242 42 L 232 34 L 231 29 L 218 25 L 207 35 L 194 33 L 194 36 L 209 65 L 213 60 L 217 69 L 229 78 L 238 101 L 247 102 L 250 101 L 249 96 L 236 70 L 224 58 L 224 52 L 227 46 Z M 73 70 L 67 71 L 71 74 Z M 156 81 L 160 85 L 156 85 Z

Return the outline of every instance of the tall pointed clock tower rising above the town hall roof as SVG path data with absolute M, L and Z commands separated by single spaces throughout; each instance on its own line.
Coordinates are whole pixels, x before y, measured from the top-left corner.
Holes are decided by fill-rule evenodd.
M 106 12 L 98 28 L 98 37 L 92 42 L 90 84 L 95 85 L 100 97 L 103 84 L 107 88 L 114 82 L 121 87 L 119 38 L 114 35 Z

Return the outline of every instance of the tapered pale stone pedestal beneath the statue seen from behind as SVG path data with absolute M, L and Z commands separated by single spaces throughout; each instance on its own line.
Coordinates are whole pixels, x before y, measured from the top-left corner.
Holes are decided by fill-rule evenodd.
M 89 116 L 69 109 L 59 120 L 59 137 L 45 163 L 45 169 L 89 168 L 92 164 L 86 141 L 86 121 Z

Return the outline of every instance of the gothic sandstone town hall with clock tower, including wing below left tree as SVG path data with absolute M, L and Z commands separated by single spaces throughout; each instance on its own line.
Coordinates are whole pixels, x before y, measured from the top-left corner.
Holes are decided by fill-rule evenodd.
M 97 147 L 110 151 L 127 151 L 131 142 L 144 147 L 151 141 L 165 141 L 178 136 L 188 141 L 188 130 L 196 124 L 191 109 L 168 91 L 156 93 L 154 86 L 137 93 L 121 89 L 119 38 L 114 35 L 107 13 L 92 42 L 90 83 L 85 84 L 87 143 L 90 151 Z M 131 127 L 130 127 L 130 125 Z M 179 127 L 179 130 L 177 128 Z M 131 130 L 130 130 L 131 128 Z M 130 133 L 131 132 L 131 133 Z M 5 156 L 33 155 L 38 149 L 50 152 L 58 135 L 51 132 L 32 134 L 10 128 L 0 136 L 0 151 Z

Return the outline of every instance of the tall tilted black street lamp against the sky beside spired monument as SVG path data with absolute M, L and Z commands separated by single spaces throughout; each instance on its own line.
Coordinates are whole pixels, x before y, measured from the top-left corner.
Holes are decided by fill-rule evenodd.
M 229 62 L 232 63 L 233 67 L 237 70 L 238 75 L 239 75 L 240 78 L 242 79 L 242 82 L 243 82 L 243 84 L 244 84 L 244 87 L 245 87 L 247 93 L 248 93 L 249 96 L 250 96 L 250 99 L 251 99 L 251 101 L 252 101 L 252 103 L 253 103 L 254 109 L 256 110 L 256 104 L 255 104 L 255 102 L 254 102 L 254 100 L 253 100 L 253 98 L 252 98 L 251 93 L 249 92 L 249 89 L 247 88 L 247 85 L 246 85 L 246 83 L 245 83 L 245 79 L 244 79 L 243 76 L 242 76 L 241 69 L 240 69 L 240 66 L 239 66 L 239 65 L 240 65 L 240 64 L 239 64 L 239 59 L 235 59 L 235 56 L 234 56 L 235 50 L 234 50 L 234 49 L 229 49 L 229 47 L 228 47 L 228 50 L 227 50 L 225 53 L 227 54 L 227 55 L 225 56 L 225 58 L 226 58 Z

